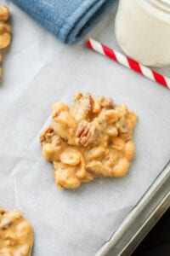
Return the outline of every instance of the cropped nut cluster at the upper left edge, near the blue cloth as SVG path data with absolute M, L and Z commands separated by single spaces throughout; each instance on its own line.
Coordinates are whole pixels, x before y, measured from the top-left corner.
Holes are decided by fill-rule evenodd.
M 11 42 L 12 28 L 8 24 L 10 12 L 6 6 L 0 5 L 0 49 L 5 49 Z M 2 55 L 0 54 L 0 62 Z M 2 76 L 2 67 L 0 67 L 0 77 Z

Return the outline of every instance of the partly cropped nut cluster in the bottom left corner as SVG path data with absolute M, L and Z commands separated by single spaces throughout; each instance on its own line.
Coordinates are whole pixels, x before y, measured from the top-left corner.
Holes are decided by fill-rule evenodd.
M 0 209 L 0 256 L 31 256 L 34 235 L 20 212 Z

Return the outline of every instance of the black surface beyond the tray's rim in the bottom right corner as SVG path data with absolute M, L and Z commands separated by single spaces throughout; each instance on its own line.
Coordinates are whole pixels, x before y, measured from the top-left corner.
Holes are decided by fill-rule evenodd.
M 170 256 L 170 208 L 132 256 Z

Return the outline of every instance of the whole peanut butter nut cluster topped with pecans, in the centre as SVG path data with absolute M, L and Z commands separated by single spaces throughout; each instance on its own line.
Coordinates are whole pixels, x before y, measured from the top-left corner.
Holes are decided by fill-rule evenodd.
M 77 93 L 69 108 L 52 107 L 52 124 L 42 132 L 42 154 L 53 162 L 59 189 L 73 189 L 94 177 L 121 177 L 134 155 L 137 116 L 104 96 Z

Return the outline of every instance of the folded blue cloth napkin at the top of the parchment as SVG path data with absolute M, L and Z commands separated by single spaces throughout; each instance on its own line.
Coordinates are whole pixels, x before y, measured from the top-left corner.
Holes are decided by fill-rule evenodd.
M 117 0 L 11 0 L 65 44 L 80 40 Z

